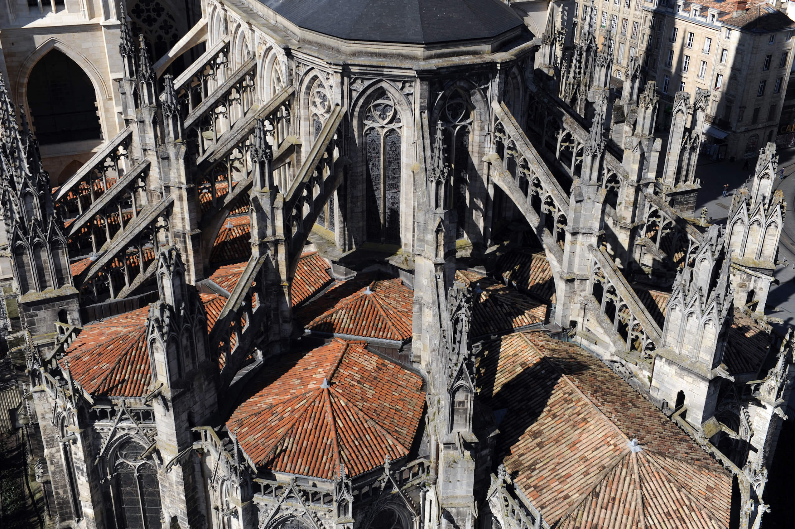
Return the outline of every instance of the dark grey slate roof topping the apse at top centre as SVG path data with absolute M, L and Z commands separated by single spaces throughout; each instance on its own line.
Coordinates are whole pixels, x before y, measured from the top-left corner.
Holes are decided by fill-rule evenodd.
M 304 29 L 347 41 L 432 44 L 498 37 L 522 19 L 498 0 L 260 0 Z

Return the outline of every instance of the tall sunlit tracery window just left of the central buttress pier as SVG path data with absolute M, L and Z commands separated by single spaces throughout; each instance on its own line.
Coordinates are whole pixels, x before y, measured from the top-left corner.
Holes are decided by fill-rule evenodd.
M 364 126 L 367 238 L 400 243 L 402 122 L 385 90 L 373 96 Z

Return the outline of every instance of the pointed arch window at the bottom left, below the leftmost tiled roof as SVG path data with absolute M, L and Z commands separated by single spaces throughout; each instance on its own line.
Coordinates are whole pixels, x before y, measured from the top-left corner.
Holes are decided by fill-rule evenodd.
M 118 527 L 159 529 L 161 527 L 160 485 L 152 461 L 142 460 L 144 447 L 124 441 L 114 462 L 114 505 Z

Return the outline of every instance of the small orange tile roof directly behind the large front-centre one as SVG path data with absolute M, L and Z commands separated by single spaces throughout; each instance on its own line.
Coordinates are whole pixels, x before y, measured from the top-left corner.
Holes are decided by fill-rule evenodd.
M 400 279 L 368 274 L 335 285 L 296 316 L 305 329 L 319 333 L 403 341 L 412 336 L 413 298 Z

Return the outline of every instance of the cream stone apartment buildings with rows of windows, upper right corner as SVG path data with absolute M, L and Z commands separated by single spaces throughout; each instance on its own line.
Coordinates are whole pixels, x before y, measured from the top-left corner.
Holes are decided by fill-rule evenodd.
M 793 64 L 795 21 L 768 2 L 596 0 L 602 44 L 613 48 L 612 76 L 638 56 L 642 84 L 657 82 L 662 130 L 674 95 L 710 90 L 703 156 L 755 158 L 774 142 Z M 580 18 L 588 6 L 576 7 Z

